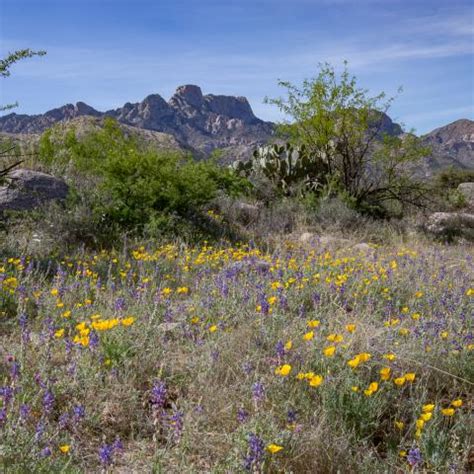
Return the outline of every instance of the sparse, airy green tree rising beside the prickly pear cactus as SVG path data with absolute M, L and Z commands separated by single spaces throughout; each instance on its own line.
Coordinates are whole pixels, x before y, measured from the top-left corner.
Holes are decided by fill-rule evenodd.
M 413 134 L 387 133 L 394 98 L 376 96 L 358 86 L 347 63 L 337 74 L 329 64 L 301 87 L 279 81 L 286 98 L 266 99 L 290 121 L 279 131 L 294 145 L 327 166 L 326 181 L 359 209 L 385 212 L 390 202 L 422 205 L 424 185 L 414 178 L 415 165 L 429 150 Z

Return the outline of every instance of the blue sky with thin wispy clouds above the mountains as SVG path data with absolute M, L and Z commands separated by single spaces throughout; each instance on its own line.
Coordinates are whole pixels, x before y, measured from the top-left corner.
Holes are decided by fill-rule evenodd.
M 278 79 L 347 59 L 374 94 L 403 86 L 390 115 L 425 133 L 474 118 L 473 28 L 470 0 L 0 0 L 1 57 L 48 51 L 1 80 L 0 104 L 106 110 L 197 84 L 279 120 L 263 104 L 284 92 Z

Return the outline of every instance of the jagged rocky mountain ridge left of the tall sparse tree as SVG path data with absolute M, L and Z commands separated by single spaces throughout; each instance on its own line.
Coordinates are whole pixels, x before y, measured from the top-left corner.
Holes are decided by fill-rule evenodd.
M 41 133 L 57 122 L 80 116 L 114 117 L 129 126 L 173 135 L 183 148 L 195 150 L 198 155 L 219 148 L 232 158 L 249 156 L 274 132 L 274 124 L 258 119 L 245 97 L 203 95 L 194 85 L 178 87 L 168 102 L 152 94 L 142 102 L 127 102 L 106 112 L 78 102 L 43 115 L 11 113 L 0 117 L 0 132 Z

